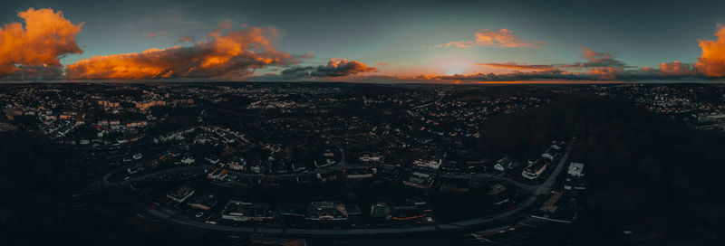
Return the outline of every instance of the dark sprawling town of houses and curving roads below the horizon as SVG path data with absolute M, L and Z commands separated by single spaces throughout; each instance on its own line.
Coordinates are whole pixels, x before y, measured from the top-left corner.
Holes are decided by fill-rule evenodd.
M 606 178 L 590 175 L 602 160 L 586 148 L 601 144 L 581 142 L 601 136 L 587 132 L 592 116 L 572 113 L 571 100 L 626 100 L 628 110 L 693 131 L 722 132 L 725 107 L 722 85 L 0 88 L 4 138 L 53 145 L 63 156 L 54 163 L 72 170 L 53 206 L 111 206 L 133 226 L 285 243 L 426 233 L 531 240 L 576 223 L 591 209 L 588 177 Z

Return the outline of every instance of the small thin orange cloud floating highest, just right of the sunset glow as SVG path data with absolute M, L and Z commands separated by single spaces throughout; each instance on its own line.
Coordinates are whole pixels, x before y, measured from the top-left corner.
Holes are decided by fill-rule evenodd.
M 514 35 L 514 32 L 506 28 L 493 31 L 490 29 L 479 30 L 474 34 L 473 40 L 452 41 L 449 43 L 440 43 L 434 47 L 458 47 L 470 48 L 473 46 L 494 46 L 499 48 L 531 48 L 541 47 L 537 43 L 528 43 Z

